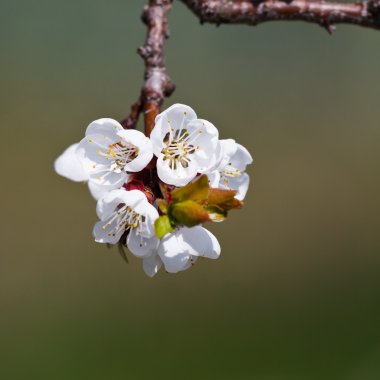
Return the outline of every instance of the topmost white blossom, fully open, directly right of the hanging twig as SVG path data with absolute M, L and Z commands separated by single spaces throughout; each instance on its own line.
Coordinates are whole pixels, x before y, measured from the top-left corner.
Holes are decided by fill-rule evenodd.
M 156 117 L 150 138 L 158 176 L 169 185 L 188 184 L 221 158 L 218 130 L 183 104 L 174 104 Z

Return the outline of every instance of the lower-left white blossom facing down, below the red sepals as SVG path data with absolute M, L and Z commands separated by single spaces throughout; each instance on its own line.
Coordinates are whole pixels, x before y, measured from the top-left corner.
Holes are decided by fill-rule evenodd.
M 158 245 L 154 222 L 158 211 L 139 190 L 112 190 L 98 200 L 96 212 L 100 219 L 93 235 L 99 243 L 117 244 L 128 233 L 128 249 L 138 257 L 151 255 Z

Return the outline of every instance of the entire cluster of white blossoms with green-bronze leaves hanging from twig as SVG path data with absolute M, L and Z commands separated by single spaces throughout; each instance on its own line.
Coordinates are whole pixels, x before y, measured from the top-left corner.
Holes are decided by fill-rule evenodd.
M 252 157 L 186 105 L 160 113 L 150 137 L 113 119 L 92 122 L 55 161 L 58 174 L 87 182 L 97 200 L 96 242 L 127 246 L 154 276 L 216 259 L 220 245 L 202 226 L 240 208 Z

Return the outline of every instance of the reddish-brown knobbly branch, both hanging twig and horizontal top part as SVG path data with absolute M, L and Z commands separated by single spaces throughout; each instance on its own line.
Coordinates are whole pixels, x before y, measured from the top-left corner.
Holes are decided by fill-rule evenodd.
M 326 2 L 315 0 L 179 0 L 203 22 L 257 25 L 267 21 L 300 20 L 323 26 L 329 33 L 334 24 L 354 24 L 380 30 L 380 0 L 367 2 Z M 148 31 L 138 49 L 145 62 L 144 85 L 124 128 L 135 128 L 144 113 L 145 134 L 150 135 L 157 114 L 175 86 L 169 78 L 164 58 L 165 40 L 169 37 L 168 13 L 172 0 L 149 0 L 142 20 Z

